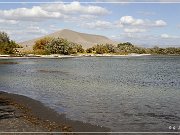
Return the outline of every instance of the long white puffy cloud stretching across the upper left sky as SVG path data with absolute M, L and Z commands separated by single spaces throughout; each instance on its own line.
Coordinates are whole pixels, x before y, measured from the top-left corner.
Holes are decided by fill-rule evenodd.
M 66 19 L 78 15 L 106 15 L 110 11 L 100 6 L 82 5 L 79 2 L 56 3 L 33 6 L 32 8 L 16 8 L 0 10 L 0 16 L 6 20 L 41 21 L 44 19 Z

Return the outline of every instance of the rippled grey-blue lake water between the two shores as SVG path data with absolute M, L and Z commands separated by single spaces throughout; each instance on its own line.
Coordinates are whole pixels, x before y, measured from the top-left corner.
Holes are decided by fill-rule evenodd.
M 0 60 L 0 90 L 113 131 L 180 126 L 180 57 Z

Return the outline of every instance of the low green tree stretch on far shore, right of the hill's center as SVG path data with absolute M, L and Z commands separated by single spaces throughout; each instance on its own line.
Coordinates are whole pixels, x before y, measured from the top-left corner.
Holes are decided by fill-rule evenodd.
M 96 53 L 96 54 L 104 54 L 104 53 L 112 53 L 112 54 L 120 54 L 127 55 L 131 53 L 137 54 L 154 54 L 154 55 L 180 55 L 180 47 L 168 47 L 168 48 L 160 48 L 155 46 L 153 48 L 144 48 L 133 45 L 130 42 L 119 43 L 117 46 L 112 44 L 101 44 L 95 45 L 86 50 L 87 53 Z

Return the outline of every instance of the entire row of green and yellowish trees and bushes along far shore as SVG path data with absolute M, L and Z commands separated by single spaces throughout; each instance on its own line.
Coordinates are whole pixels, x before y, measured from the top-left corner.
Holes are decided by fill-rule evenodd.
M 21 46 L 15 41 L 10 40 L 5 32 L 0 32 L 0 54 L 17 54 L 17 48 Z M 44 37 L 35 41 L 33 45 L 33 53 L 40 55 L 49 54 L 77 54 L 77 53 L 94 53 L 94 54 L 121 54 L 127 55 L 130 53 L 137 54 L 161 54 L 161 55 L 180 55 L 180 47 L 160 48 L 144 48 L 135 46 L 130 42 L 113 44 L 97 44 L 91 48 L 83 49 L 82 45 L 69 42 L 63 38 Z

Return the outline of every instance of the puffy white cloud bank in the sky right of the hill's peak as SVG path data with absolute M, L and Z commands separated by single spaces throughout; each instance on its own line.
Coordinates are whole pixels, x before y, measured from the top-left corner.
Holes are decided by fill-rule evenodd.
M 95 19 L 93 16 L 87 16 L 87 18 Z M 71 18 L 72 19 L 72 18 Z M 79 19 L 82 19 L 80 17 Z M 79 20 L 78 19 L 78 20 Z M 146 32 L 147 29 L 152 27 L 164 27 L 167 23 L 163 20 L 147 20 L 147 19 L 137 19 L 132 16 L 122 16 L 118 21 L 109 22 L 104 20 L 91 20 L 91 22 L 81 22 L 82 26 L 86 28 L 96 28 L 96 29 L 109 29 L 109 28 L 120 28 L 126 33 L 135 32 Z

